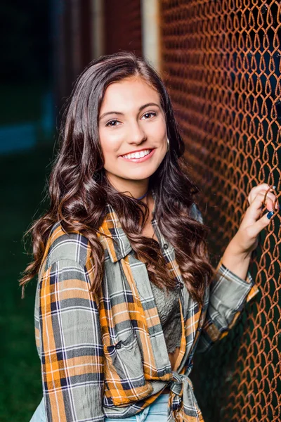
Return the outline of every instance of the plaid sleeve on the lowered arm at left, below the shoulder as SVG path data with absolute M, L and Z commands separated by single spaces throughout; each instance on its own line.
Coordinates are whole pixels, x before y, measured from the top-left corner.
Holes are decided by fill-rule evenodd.
M 51 265 L 39 283 L 41 372 L 47 422 L 102 422 L 103 346 L 86 268 Z

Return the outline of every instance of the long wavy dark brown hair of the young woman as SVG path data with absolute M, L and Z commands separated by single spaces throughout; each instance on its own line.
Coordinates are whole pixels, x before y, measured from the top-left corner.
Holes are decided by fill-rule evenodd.
M 207 257 L 209 228 L 190 217 L 192 196 L 199 188 L 188 177 L 188 166 L 183 158 L 185 146 L 161 77 L 145 60 L 129 52 L 91 61 L 74 84 L 63 115 L 60 151 L 49 180 L 50 207 L 27 231 L 32 233 L 34 260 L 20 279 L 22 291 L 38 273 L 51 229 L 60 222 L 64 231 L 79 231 L 88 238 L 96 268 L 91 290 L 98 292 L 103 281 L 104 250 L 97 234 L 105 218 L 107 203 L 117 213 L 133 250 L 147 265 L 150 280 L 157 286 L 175 287 L 174 279 L 163 265 L 157 241 L 141 235 L 149 214 L 148 206 L 116 191 L 103 168 L 98 115 L 105 89 L 112 82 L 135 75 L 157 89 L 170 143 L 168 153 L 149 181 L 156 196 L 155 217 L 159 230 L 175 248 L 176 260 L 190 295 L 202 304 L 205 282 L 211 280 L 214 268 Z

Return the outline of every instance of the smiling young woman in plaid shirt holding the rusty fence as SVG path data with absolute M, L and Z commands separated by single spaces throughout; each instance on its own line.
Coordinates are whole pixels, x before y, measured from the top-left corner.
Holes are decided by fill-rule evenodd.
M 21 280 L 38 274 L 44 397 L 32 422 L 203 421 L 193 354 L 226 335 L 255 295 L 250 256 L 277 203 L 268 184 L 251 189 L 214 269 L 184 149 L 144 60 L 103 56 L 79 76 Z

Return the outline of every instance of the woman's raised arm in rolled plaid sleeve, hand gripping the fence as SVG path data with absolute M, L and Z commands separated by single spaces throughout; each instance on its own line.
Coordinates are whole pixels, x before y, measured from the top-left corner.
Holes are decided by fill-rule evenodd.
M 268 210 L 273 210 L 274 206 L 275 196 L 266 189 L 269 186 L 261 184 L 251 190 L 248 197 L 250 206 L 237 234 L 218 263 L 209 288 L 209 306 L 197 346 L 198 352 L 208 350 L 214 342 L 226 336 L 240 316 L 244 303 L 259 292 L 248 268 L 251 252 L 257 245 L 257 236 L 270 221 L 266 215 L 259 218 L 263 201 Z M 200 214 L 198 212 L 197 215 Z M 203 222 L 201 214 L 198 219 Z

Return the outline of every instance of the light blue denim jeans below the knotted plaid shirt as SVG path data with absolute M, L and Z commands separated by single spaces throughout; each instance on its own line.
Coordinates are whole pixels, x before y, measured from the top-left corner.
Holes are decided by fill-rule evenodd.
M 160 394 L 155 402 L 145 407 L 138 414 L 122 419 L 105 418 L 105 422 L 165 422 L 168 416 L 168 399 L 169 394 Z M 43 399 L 30 419 L 30 422 L 46 422 Z

